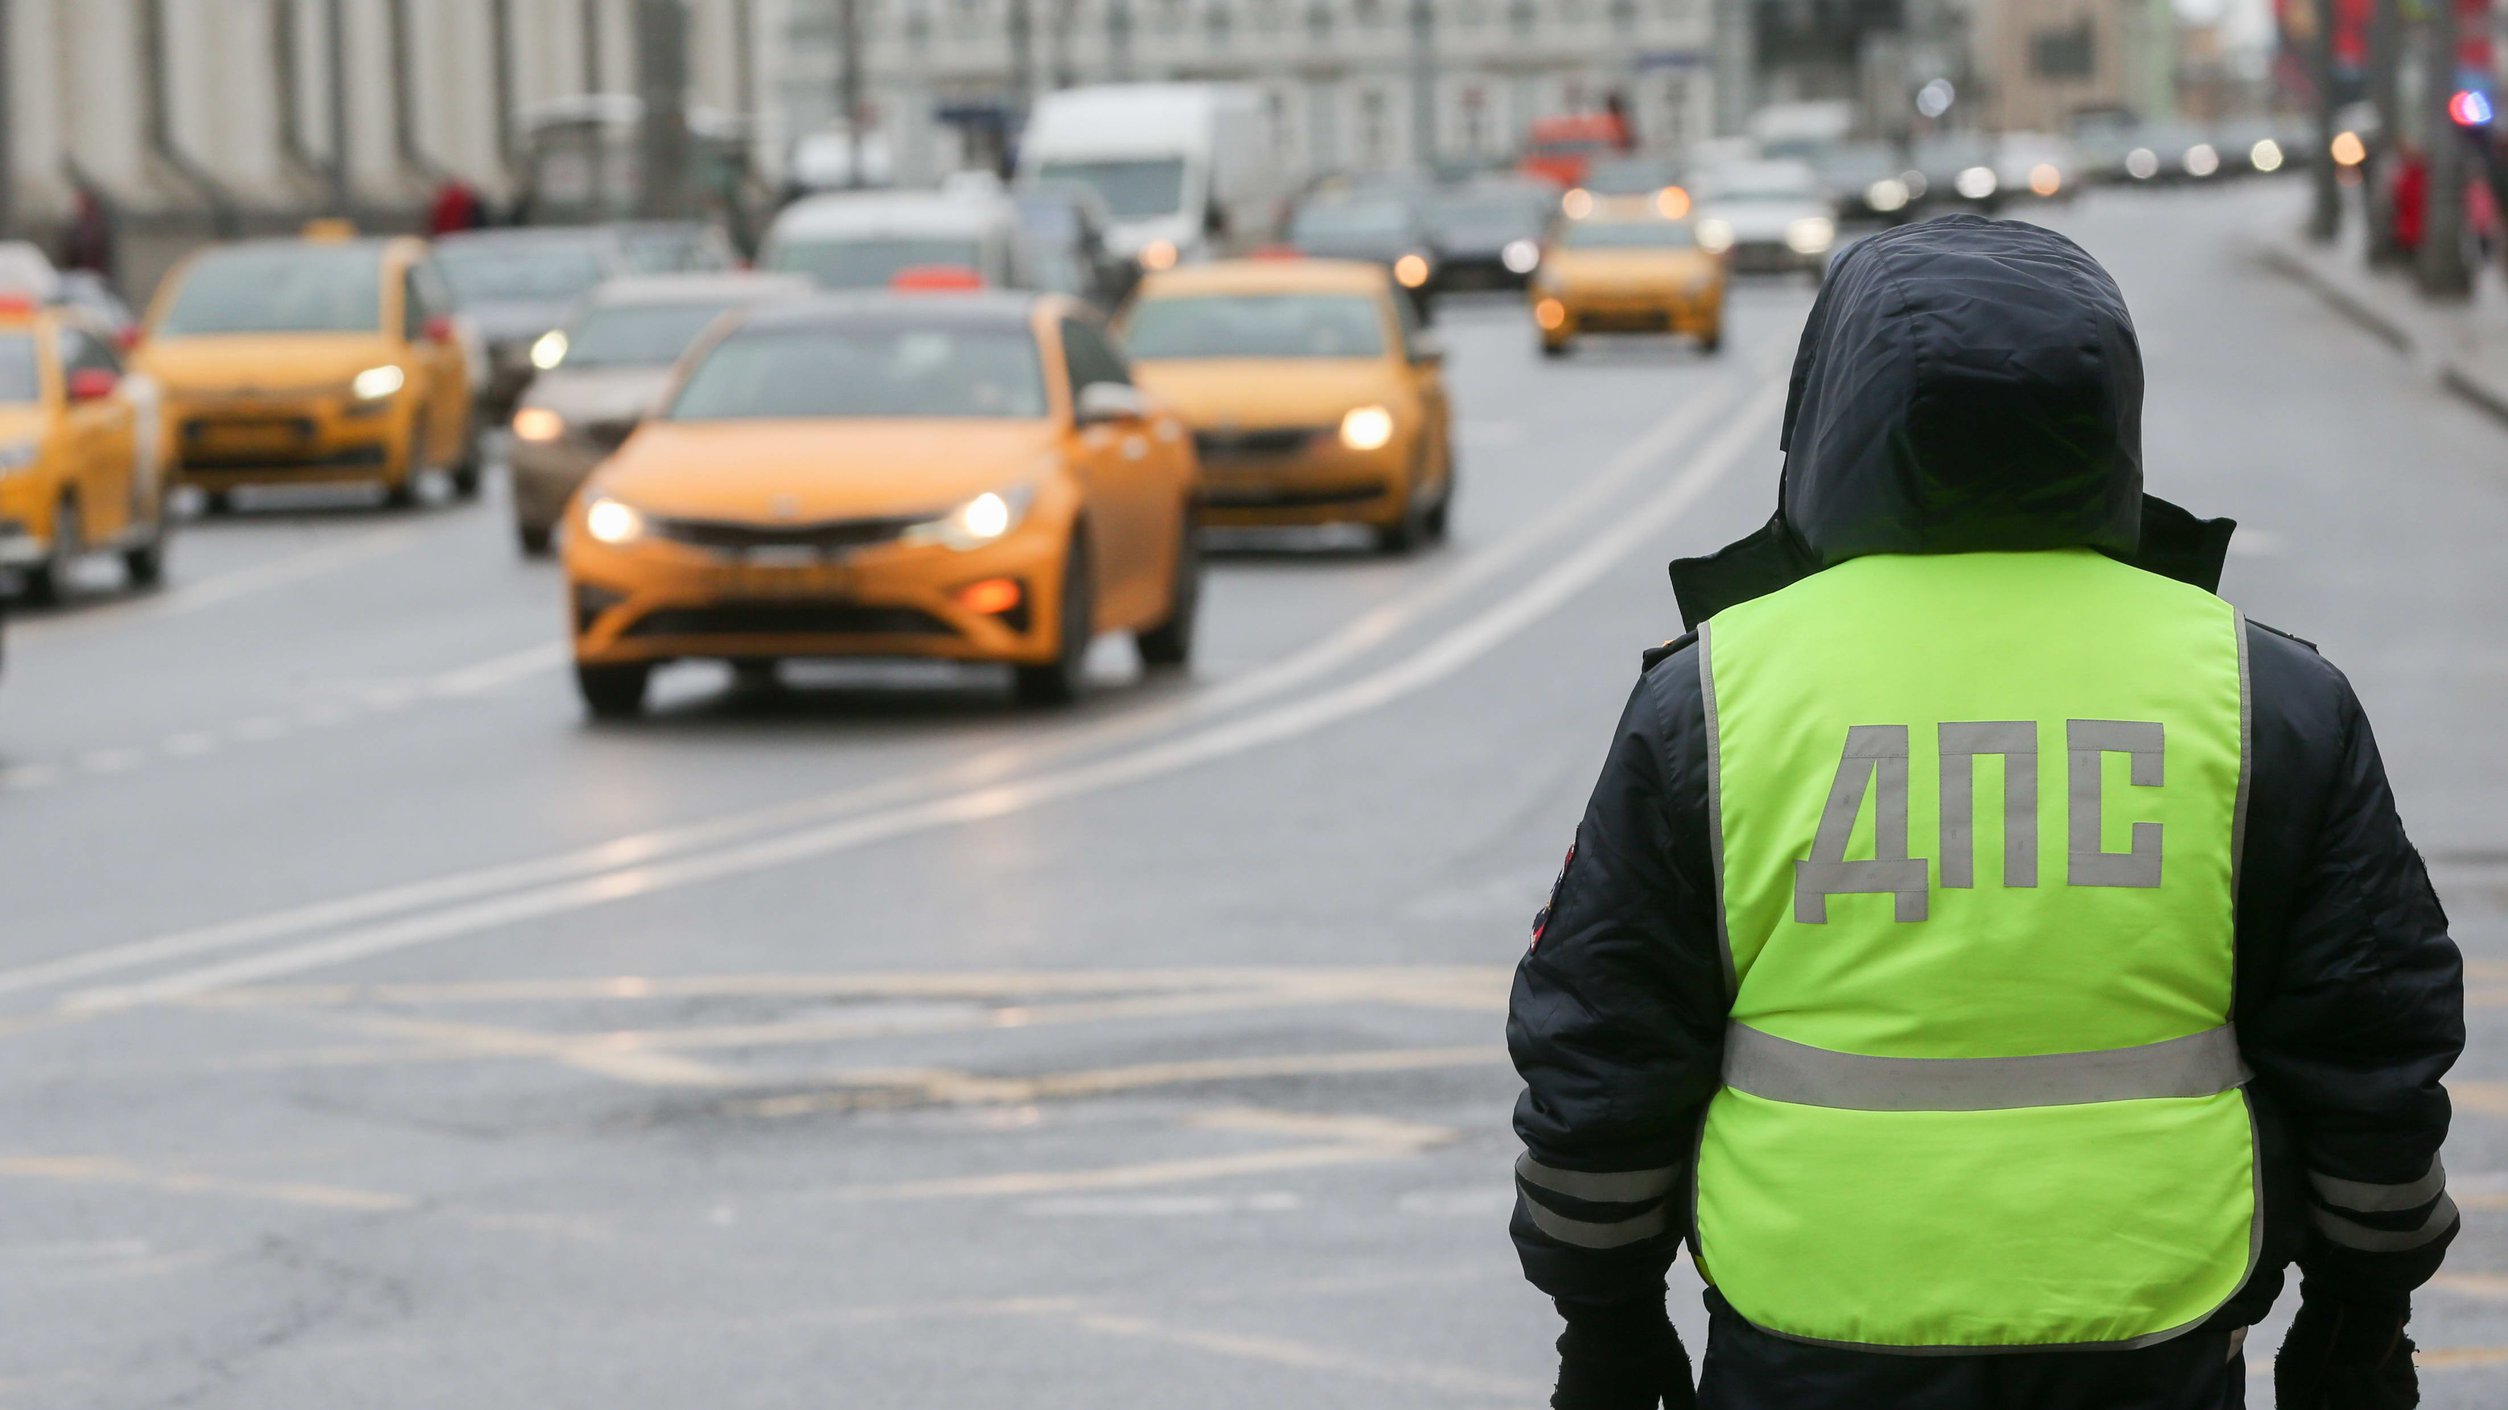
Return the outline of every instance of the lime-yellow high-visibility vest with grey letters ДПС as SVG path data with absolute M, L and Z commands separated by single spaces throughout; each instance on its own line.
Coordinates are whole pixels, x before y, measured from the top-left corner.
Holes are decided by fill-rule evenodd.
M 2237 610 L 2089 549 L 1884 554 L 1698 662 L 1736 996 L 1700 1272 L 1851 1347 L 2200 1325 L 2260 1249 Z

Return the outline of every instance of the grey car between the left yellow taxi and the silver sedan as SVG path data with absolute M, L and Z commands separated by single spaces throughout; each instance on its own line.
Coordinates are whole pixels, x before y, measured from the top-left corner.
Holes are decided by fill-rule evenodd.
M 436 238 L 436 268 L 487 359 L 479 416 L 502 421 L 532 381 L 532 349 L 594 284 L 627 273 L 617 226 L 459 231 Z

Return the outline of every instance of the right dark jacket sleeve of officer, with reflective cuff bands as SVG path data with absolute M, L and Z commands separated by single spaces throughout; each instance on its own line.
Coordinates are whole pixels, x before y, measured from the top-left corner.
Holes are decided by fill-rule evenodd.
M 2305 1172 L 2305 1280 L 2403 1300 L 2455 1237 L 2440 1086 L 2463 961 L 2342 675 L 2250 632 L 2255 793 L 2240 883 L 2240 1046 Z

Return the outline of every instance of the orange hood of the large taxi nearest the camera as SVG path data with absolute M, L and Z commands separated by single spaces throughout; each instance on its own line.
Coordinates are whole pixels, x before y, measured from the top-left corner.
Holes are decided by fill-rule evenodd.
M 1051 421 L 645 421 L 592 489 L 647 514 L 760 524 L 943 514 L 1036 479 Z

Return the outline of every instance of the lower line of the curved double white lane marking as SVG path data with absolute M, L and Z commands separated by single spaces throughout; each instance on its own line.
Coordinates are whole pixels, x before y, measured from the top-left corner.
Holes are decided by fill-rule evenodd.
M 697 856 L 682 856 L 675 861 L 627 863 L 614 871 L 584 876 L 577 881 L 562 881 L 554 886 L 542 886 L 537 891 L 517 891 L 512 896 L 497 896 L 472 906 L 451 906 L 444 911 L 426 911 L 401 921 L 384 921 L 379 926 L 351 928 L 308 943 L 283 946 L 223 963 L 178 971 L 143 983 L 80 991 L 68 996 L 63 1001 L 63 1009 L 65 1011 L 125 1009 L 133 1004 L 158 1004 L 166 999 L 203 994 L 208 989 L 273 978 L 281 973 L 329 968 L 336 963 L 371 958 L 379 953 L 406 951 L 414 946 L 426 946 L 456 936 L 512 926 L 539 916 L 582 911 L 592 906 L 604 906 L 609 901 L 624 901 L 630 896 L 650 896 L 667 888 L 695 886 L 700 881 L 720 881 L 727 876 L 742 876 L 752 871 L 788 866 L 805 858 L 823 858 L 828 853 L 855 851 L 870 843 L 948 828 L 958 823 L 981 823 L 991 818 L 1003 818 L 1011 813 L 1041 808 L 1046 803 L 1081 798 L 1088 793 L 1104 793 L 1116 785 L 1159 778 L 1204 763 L 1216 763 L 1262 745 L 1322 730 L 1352 715 L 1377 710 L 1425 685 L 1435 685 L 1447 675 L 1455 675 L 1465 665 L 1475 662 L 1477 657 L 1487 655 L 1492 647 L 1505 642 L 1510 635 L 1525 630 L 1527 625 L 1562 607 L 1578 592 L 1588 590 L 1605 572 L 1610 572 L 1630 549 L 1635 549 L 1648 537 L 1663 532 L 1673 522 L 1673 517 L 1688 509 L 1700 494 L 1705 494 L 1710 484 L 1715 484 L 1728 469 L 1733 469 L 1733 464 L 1741 462 L 1743 452 L 1753 444 L 1753 439 L 1763 434 L 1763 424 L 1776 414 L 1781 404 L 1783 404 L 1783 386 L 1763 386 L 1748 401 L 1748 406 L 1743 406 L 1743 411 L 1736 414 L 1723 427 L 1723 432 L 1718 432 L 1698 452 L 1698 457 L 1693 457 L 1690 464 L 1670 479 L 1670 484 L 1665 484 L 1650 499 L 1640 502 L 1635 509 L 1620 514 L 1613 524 L 1585 537 L 1573 552 L 1552 562 L 1547 572 L 1527 582 L 1520 592 L 1497 600 L 1490 610 L 1475 617 L 1462 620 L 1457 627 L 1430 642 L 1425 650 L 1412 652 L 1409 657 L 1402 657 L 1357 680 L 1349 680 L 1339 687 L 1287 700 L 1282 705 L 1259 710 L 1254 715 L 1224 720 L 1196 733 L 1159 740 L 1139 750 L 1119 753 L 1091 763 L 1051 768 L 1043 773 L 1033 773 L 1028 778 L 1013 778 L 993 785 L 968 788 L 961 793 L 948 793 L 920 803 L 905 803 L 895 808 L 863 813 L 855 818 L 843 818 L 825 825 L 810 825 L 780 835 L 765 835 L 750 843 L 735 843 Z M 419 888 L 424 886 L 426 883 L 419 883 Z M 416 891 L 416 888 L 404 888 L 404 891 Z M 334 906 L 361 908 L 369 903 L 371 903 L 369 898 L 351 898 Z M 268 921 L 258 923 L 246 921 L 241 926 L 268 926 Z M 221 941 L 218 948 L 233 943 L 238 941 Z M 186 936 L 168 936 L 161 941 L 140 941 L 140 946 L 211 948 L 201 943 L 201 931 Z M 130 953 L 130 948 L 133 946 L 123 946 L 118 951 L 98 951 L 95 956 L 73 956 L 70 961 L 55 961 L 53 966 L 35 966 L 35 968 L 53 968 L 58 973 L 63 966 L 75 966 L 83 958 Z M 18 986 L 23 986 L 23 976 L 28 973 L 30 971 L 15 971 L 10 976 L 0 976 L 0 983 L 20 981 Z

